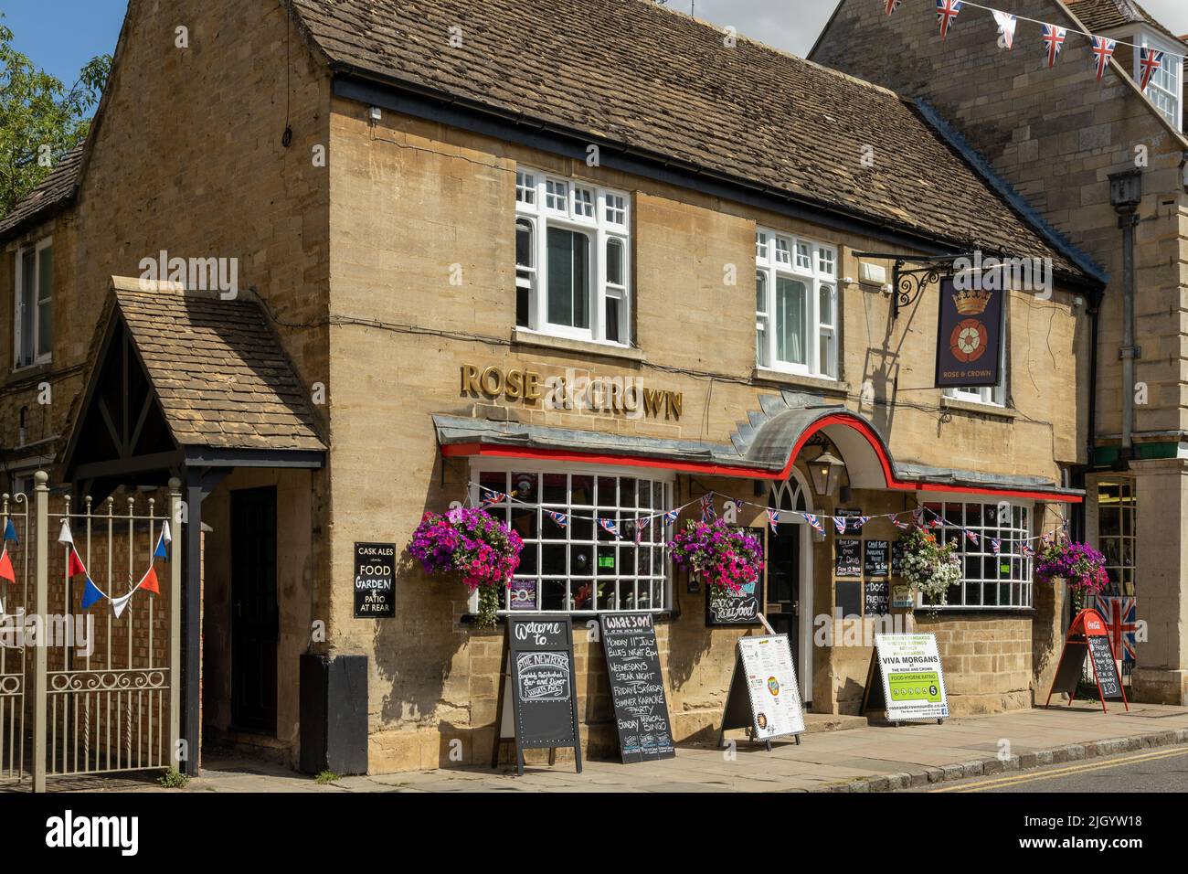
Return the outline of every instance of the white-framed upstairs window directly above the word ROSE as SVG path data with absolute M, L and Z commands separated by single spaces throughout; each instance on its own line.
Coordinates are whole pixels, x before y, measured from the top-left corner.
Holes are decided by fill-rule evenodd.
M 625 191 L 516 171 L 516 325 L 630 346 L 631 232 Z

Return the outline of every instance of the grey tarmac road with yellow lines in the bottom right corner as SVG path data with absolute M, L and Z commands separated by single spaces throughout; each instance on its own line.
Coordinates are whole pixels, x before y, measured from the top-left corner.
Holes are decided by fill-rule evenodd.
M 1188 746 L 958 780 L 924 792 L 1188 792 Z

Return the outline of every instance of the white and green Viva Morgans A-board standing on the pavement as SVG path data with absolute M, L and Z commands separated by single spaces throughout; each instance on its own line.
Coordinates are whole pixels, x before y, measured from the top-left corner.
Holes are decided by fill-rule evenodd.
M 878 674 L 878 675 L 876 675 Z M 877 634 L 859 715 L 883 710 L 889 722 L 942 722 L 949 715 L 935 634 Z

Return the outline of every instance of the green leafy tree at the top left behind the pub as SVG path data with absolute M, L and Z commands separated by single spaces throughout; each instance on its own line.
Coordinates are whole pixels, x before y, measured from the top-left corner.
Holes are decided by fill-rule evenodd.
M 112 69 L 91 58 L 69 90 L 13 48 L 0 24 L 0 215 L 7 215 L 87 137 L 90 111 Z

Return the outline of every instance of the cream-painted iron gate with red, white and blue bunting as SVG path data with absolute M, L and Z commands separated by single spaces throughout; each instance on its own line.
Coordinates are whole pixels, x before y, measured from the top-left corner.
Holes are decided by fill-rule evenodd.
M 0 504 L 0 782 L 178 766 L 181 484 L 74 505 L 34 480 Z

